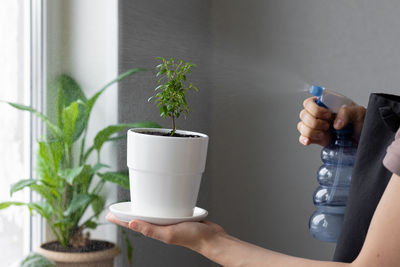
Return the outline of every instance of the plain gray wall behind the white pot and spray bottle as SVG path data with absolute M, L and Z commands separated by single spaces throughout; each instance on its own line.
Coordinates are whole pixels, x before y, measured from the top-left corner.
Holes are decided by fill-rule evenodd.
M 400 83 L 400 3 L 392 1 L 120 1 L 120 71 L 156 56 L 197 63 L 184 129 L 210 136 L 199 206 L 229 233 L 295 256 L 329 260 L 312 239 L 320 148 L 298 144 L 307 83 L 365 105 Z M 121 84 L 121 122 L 157 120 L 151 73 Z M 120 167 L 125 168 L 125 144 Z M 121 199 L 128 198 L 121 192 Z M 190 251 L 134 237 L 136 266 L 212 266 Z

